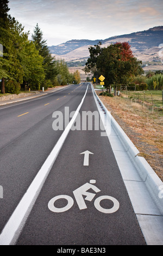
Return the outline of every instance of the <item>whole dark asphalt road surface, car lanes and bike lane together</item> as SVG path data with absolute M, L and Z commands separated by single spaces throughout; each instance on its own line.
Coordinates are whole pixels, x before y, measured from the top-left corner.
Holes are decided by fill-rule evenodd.
M 65 136 L 56 127 L 77 110 Z M 109 139 L 94 119 L 88 127 L 87 111 L 98 113 L 89 83 L 0 108 L 0 243 L 146 244 Z

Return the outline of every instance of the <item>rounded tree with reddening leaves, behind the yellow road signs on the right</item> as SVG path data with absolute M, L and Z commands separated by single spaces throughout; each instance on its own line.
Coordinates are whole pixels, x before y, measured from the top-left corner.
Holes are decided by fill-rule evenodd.
M 94 76 L 103 75 L 107 89 L 114 84 L 115 89 L 120 84 L 129 82 L 130 77 L 143 73 L 141 62 L 137 60 L 128 42 L 117 42 L 101 48 L 101 43 L 89 48 L 90 58 L 85 64 L 85 71 L 94 69 Z

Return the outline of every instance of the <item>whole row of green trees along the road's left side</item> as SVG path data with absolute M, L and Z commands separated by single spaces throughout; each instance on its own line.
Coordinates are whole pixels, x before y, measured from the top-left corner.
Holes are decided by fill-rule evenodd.
M 8 87 L 12 87 L 12 92 L 15 87 L 18 92 L 16 88 L 20 88 L 20 84 L 38 90 L 74 80 L 64 60 L 58 61 L 51 56 L 39 26 L 35 28 L 33 41 L 30 41 L 29 33 L 24 32 L 21 23 L 8 15 L 8 1 L 0 0 L 0 3 L 1 93 L 5 93 L 5 88 L 9 91 Z

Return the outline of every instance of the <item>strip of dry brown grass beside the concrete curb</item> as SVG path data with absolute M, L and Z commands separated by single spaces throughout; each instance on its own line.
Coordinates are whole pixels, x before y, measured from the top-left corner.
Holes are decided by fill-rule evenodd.
M 97 91 L 97 95 L 100 92 Z M 120 96 L 99 96 L 117 123 L 163 181 L 163 115 Z

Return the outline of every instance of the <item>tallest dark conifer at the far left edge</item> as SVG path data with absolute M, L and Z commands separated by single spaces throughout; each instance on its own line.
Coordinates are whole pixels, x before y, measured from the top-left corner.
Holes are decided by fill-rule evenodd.
M 2 84 L 1 93 L 5 93 L 5 79 L 15 80 L 21 83 L 23 80 L 23 70 L 17 58 L 19 48 L 19 38 L 23 31 L 22 26 L 16 22 L 14 17 L 8 15 L 9 1 L 1 1 L 1 27 L 0 43 L 3 45 L 3 57 L 0 59 Z

